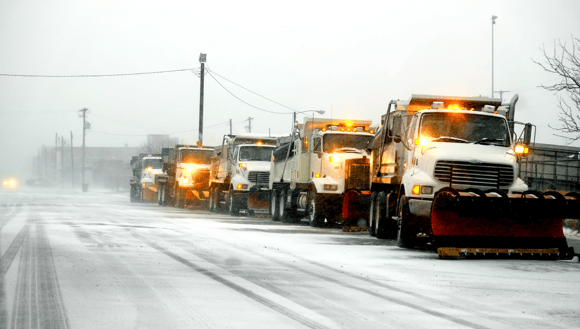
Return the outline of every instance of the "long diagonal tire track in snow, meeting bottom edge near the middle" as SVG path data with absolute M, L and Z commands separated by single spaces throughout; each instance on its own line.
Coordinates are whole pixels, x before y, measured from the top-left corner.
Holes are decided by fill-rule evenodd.
M 149 241 L 147 238 L 145 238 L 145 237 L 143 237 L 143 236 L 141 236 L 133 231 L 131 231 L 131 234 L 134 237 L 145 242 L 151 248 L 162 252 L 163 254 L 173 258 L 177 262 L 193 269 L 194 271 L 196 271 L 200 274 L 203 274 L 203 275 L 209 277 L 210 279 L 213 279 L 213 280 L 223 284 L 224 286 L 226 286 L 226 287 L 228 287 L 228 288 L 230 288 L 230 289 L 232 289 L 232 290 L 234 290 L 234 291 L 236 291 L 236 292 L 238 292 L 238 293 L 240 293 L 240 294 L 242 294 L 242 295 L 244 295 L 244 296 L 246 296 L 246 297 L 248 297 L 248 298 L 280 313 L 280 314 L 282 314 L 282 315 L 287 316 L 288 318 L 290 318 L 298 323 L 305 325 L 308 328 L 327 328 L 326 326 L 321 325 L 315 321 L 312 321 L 312 320 L 308 319 L 307 317 L 302 316 L 301 314 L 298 314 L 298 313 L 296 313 L 296 312 L 294 312 L 294 311 L 292 311 L 292 310 L 290 310 L 282 305 L 279 305 L 278 303 L 270 301 L 269 299 L 267 299 L 263 296 L 260 296 L 259 294 L 255 293 L 253 291 L 250 291 L 249 289 L 246 289 L 246 288 L 220 276 L 219 274 L 212 272 L 211 270 L 208 270 L 208 269 L 205 269 L 201 266 L 198 266 L 198 265 L 194 264 L 193 262 L 177 255 L 176 253 L 173 253 L 173 252 Z

